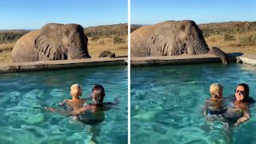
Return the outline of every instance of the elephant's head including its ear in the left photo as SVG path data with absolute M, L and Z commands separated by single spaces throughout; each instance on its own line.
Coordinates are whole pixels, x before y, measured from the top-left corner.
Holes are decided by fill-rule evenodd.
M 35 47 L 50 60 L 90 58 L 87 42 L 82 26 L 50 23 L 40 30 Z

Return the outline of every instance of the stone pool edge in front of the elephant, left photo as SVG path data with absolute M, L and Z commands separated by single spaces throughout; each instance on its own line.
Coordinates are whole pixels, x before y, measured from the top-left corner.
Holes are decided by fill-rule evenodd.
M 0 65 L 1 73 L 60 70 L 95 66 L 127 66 L 127 57 L 122 58 L 86 58 L 59 61 L 10 62 Z

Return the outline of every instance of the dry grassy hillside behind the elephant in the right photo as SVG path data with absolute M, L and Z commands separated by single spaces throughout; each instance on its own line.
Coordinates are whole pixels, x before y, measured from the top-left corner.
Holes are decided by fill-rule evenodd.
M 198 25 L 208 46 L 227 53 L 256 54 L 256 22 L 217 22 Z M 140 26 L 132 25 L 131 31 Z

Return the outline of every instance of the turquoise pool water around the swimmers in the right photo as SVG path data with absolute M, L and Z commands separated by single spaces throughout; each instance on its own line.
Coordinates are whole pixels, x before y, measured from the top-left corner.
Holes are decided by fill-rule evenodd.
M 238 83 L 250 86 L 256 99 L 256 67 L 230 64 L 133 67 L 131 70 L 131 143 L 255 143 L 256 106 L 252 117 L 225 130 L 202 114 L 209 86 L 220 82 L 223 96 Z

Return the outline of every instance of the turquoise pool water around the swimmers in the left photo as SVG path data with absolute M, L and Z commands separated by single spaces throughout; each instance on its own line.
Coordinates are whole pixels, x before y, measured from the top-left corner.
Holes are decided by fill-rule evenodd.
M 106 66 L 0 75 L 0 143 L 127 143 L 127 67 Z M 104 102 L 118 97 L 105 121 L 83 126 L 43 109 L 70 98 L 70 86 L 82 85 L 87 98 L 94 84 L 106 90 Z

